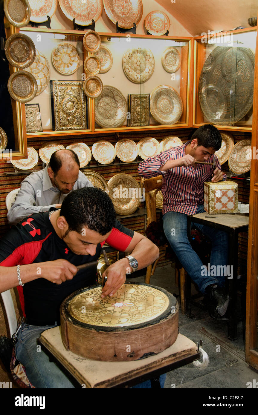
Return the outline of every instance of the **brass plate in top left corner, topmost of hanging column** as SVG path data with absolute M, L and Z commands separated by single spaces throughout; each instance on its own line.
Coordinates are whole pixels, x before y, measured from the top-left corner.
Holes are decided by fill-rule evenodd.
M 5 15 L 15 27 L 27 26 L 30 20 L 30 7 L 27 0 L 5 0 Z

